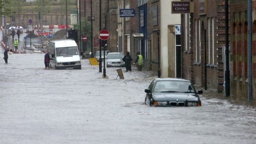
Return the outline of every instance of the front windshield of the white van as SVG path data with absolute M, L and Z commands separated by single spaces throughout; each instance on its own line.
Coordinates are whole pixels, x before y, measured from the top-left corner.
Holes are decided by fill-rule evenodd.
M 79 55 L 77 47 L 56 48 L 56 56 Z

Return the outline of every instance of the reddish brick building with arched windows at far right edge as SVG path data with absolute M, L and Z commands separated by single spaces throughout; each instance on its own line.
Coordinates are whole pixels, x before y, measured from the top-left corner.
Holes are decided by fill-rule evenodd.
M 248 4 L 247 0 L 230 1 L 230 93 L 241 98 L 248 97 Z M 256 98 L 256 1 L 252 0 L 252 99 Z

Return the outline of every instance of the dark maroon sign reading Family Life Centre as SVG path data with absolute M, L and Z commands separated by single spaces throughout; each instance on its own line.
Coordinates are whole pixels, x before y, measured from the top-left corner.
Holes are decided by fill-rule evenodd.
M 176 13 L 176 14 L 190 13 L 190 1 L 172 1 L 171 13 Z

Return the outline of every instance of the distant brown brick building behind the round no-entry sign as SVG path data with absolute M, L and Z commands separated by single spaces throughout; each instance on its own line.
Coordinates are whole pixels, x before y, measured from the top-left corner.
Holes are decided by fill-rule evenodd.
M 91 16 L 91 1 L 92 1 L 92 17 L 93 20 L 93 36 L 94 45 L 93 53 L 100 49 L 99 32 L 100 32 L 100 4 L 99 0 L 81 0 L 81 17 L 86 18 Z M 89 21 L 90 22 L 90 21 Z M 107 40 L 107 50 L 111 52 L 117 51 L 117 0 L 101 0 L 101 29 L 106 28 L 110 37 Z M 102 48 L 103 50 L 103 48 Z

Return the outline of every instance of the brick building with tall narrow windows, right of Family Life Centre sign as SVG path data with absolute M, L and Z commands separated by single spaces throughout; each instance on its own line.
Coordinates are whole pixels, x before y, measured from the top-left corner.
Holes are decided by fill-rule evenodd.
M 197 86 L 223 91 L 225 0 L 190 0 L 181 15 L 182 77 Z

